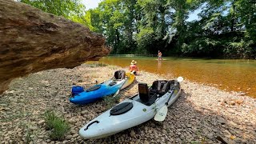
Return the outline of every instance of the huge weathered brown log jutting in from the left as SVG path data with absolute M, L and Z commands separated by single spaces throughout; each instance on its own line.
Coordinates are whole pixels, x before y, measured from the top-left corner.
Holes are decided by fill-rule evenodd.
M 21 2 L 0 0 L 0 94 L 26 74 L 71 68 L 110 53 L 102 35 Z

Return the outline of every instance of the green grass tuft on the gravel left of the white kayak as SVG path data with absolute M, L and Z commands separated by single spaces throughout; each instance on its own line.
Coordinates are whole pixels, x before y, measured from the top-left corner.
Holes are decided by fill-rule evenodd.
M 46 128 L 51 130 L 51 140 L 62 140 L 70 130 L 69 124 L 63 118 L 59 118 L 52 110 L 46 110 L 45 121 Z

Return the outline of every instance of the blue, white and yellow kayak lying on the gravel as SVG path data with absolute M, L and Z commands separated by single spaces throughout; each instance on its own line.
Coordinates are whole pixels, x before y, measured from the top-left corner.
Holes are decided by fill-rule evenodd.
M 130 86 L 130 84 L 134 82 L 134 78 L 135 76 L 132 72 L 118 70 L 114 73 L 114 77 L 106 82 L 102 82 L 101 84 L 92 86 L 86 90 L 81 90 L 78 93 L 74 93 L 74 89 L 72 89 L 70 102 L 78 105 L 84 105 L 86 103 L 95 102 L 99 98 L 114 95 L 118 90 L 122 90 L 127 86 Z

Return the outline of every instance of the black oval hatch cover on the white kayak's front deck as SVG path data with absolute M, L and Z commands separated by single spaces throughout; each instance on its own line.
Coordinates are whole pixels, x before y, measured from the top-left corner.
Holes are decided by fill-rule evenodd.
M 133 108 L 133 103 L 132 102 L 123 102 L 119 104 L 118 106 L 114 106 L 110 110 L 110 115 L 120 115 L 120 114 L 125 114 L 127 111 L 131 110 Z

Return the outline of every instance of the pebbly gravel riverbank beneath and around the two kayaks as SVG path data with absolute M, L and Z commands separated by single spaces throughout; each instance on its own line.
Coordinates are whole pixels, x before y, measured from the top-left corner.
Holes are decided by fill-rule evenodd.
M 45 70 L 17 78 L 10 90 L 0 95 L 0 143 L 30 142 L 54 143 L 43 114 L 54 110 L 70 123 L 70 132 L 62 142 L 56 143 L 221 143 L 216 137 L 230 142 L 256 143 L 256 99 L 239 93 L 218 90 L 186 79 L 182 94 L 169 107 L 166 120 L 150 120 L 142 125 L 98 140 L 83 140 L 78 130 L 106 110 L 106 102 L 98 101 L 86 106 L 69 102 L 73 84 L 93 86 L 95 81 L 111 78 L 118 66 L 77 66 L 74 69 Z M 141 71 L 137 82 L 151 84 L 162 75 Z M 138 92 L 134 82 L 120 92 L 121 100 Z

